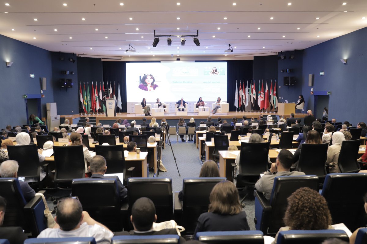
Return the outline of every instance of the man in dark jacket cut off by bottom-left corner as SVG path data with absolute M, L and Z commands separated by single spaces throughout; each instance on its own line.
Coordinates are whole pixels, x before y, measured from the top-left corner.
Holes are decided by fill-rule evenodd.
M 0 196 L 0 226 L 3 225 L 6 209 L 6 200 Z M 11 244 L 22 244 L 27 235 L 23 232 L 22 227 L 0 227 L 0 239 L 8 239 Z

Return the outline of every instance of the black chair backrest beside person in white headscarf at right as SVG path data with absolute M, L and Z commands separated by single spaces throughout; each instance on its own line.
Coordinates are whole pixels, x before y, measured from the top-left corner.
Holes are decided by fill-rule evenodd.
M 360 142 L 361 139 L 342 142 L 338 158 L 338 166 L 342 173 L 358 172 L 360 170 L 357 163 Z

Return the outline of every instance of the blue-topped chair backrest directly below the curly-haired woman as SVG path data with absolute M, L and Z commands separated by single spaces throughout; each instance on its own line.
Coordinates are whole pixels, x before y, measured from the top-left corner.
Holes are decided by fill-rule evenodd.
M 322 243 L 329 238 L 338 238 L 349 243 L 344 230 L 288 230 L 278 234 L 277 244 Z

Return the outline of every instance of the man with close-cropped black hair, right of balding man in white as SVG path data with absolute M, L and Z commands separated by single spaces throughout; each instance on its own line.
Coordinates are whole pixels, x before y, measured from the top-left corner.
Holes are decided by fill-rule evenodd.
M 156 208 L 154 203 L 149 198 L 139 198 L 135 201 L 131 208 L 130 221 L 134 230 L 130 232 L 116 232 L 115 236 L 150 236 L 150 235 L 175 235 L 176 229 L 163 229 L 159 231 L 153 230 L 153 222 L 157 221 Z M 180 242 L 185 242 L 185 239 L 180 237 Z

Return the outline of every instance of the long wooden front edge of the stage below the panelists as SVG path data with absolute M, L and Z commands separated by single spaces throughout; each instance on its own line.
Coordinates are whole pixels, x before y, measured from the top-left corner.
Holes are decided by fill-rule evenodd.
M 246 115 L 247 119 L 250 119 L 251 117 L 254 117 L 255 120 L 257 120 L 257 118 L 259 117 L 259 115 L 264 115 L 264 117 L 266 117 L 266 115 L 278 115 L 278 113 L 275 112 L 264 112 L 264 113 L 259 113 L 259 112 L 229 112 L 229 113 L 223 113 L 223 114 L 215 114 L 215 115 L 210 115 L 212 117 L 212 120 L 217 120 L 218 117 L 221 117 L 222 119 L 231 119 L 233 117 L 237 117 L 237 119 L 242 118 L 242 116 Z M 306 116 L 306 114 L 297 114 L 294 117 L 295 118 L 304 118 Z M 60 117 L 65 117 L 67 119 L 77 119 L 77 118 L 85 118 L 85 117 L 96 117 L 96 119 L 98 118 L 98 120 L 117 120 L 118 118 L 121 119 L 127 119 L 127 120 L 141 120 L 143 117 L 146 117 L 147 120 L 152 119 L 153 116 L 135 116 L 134 113 L 116 113 L 116 116 L 114 117 L 106 117 L 104 114 L 90 114 L 90 115 L 61 115 Z M 181 116 L 176 116 L 175 113 L 165 113 L 164 116 L 154 116 L 157 120 L 161 120 L 163 118 L 167 119 L 167 120 L 178 120 Z M 208 116 L 199 116 L 197 115 L 197 113 L 188 113 L 187 116 L 182 116 L 183 119 L 187 120 L 190 119 L 191 117 L 193 117 L 194 119 L 207 119 Z M 284 118 L 287 119 L 289 118 L 290 115 L 284 115 Z

